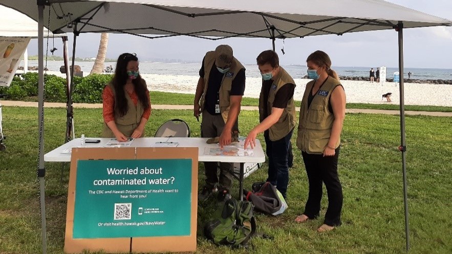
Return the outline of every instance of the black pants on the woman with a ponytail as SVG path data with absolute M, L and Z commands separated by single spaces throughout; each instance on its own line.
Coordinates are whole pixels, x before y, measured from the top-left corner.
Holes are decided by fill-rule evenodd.
M 336 148 L 334 156 L 323 156 L 322 154 L 308 154 L 302 152 L 305 162 L 306 173 L 309 180 L 309 196 L 306 201 L 305 214 L 310 219 L 319 216 L 320 200 L 322 198 L 322 182 L 328 193 L 328 209 L 325 214 L 324 223 L 330 226 L 339 226 L 340 213 L 342 210 L 342 186 L 337 174 L 337 159 L 340 146 Z

